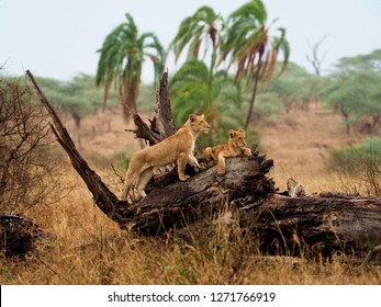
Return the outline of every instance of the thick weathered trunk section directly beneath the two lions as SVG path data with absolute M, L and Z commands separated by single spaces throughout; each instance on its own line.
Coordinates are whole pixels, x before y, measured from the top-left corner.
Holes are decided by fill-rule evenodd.
M 216 166 L 198 174 L 189 168 L 187 172 L 192 177 L 181 182 L 175 168 L 152 182 L 147 197 L 120 208 L 119 214 L 127 217 L 124 226 L 141 232 L 181 228 L 205 212 L 218 212 L 226 203 L 248 195 L 265 200 L 276 193 L 272 180 L 265 177 L 271 167 L 272 160 L 255 152 L 250 158 L 228 159 L 224 177 L 216 177 Z

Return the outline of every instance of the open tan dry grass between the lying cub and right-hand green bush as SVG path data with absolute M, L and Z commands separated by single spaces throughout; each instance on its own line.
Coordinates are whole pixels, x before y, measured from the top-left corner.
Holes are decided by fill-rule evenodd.
M 311 104 L 309 111 L 293 111 L 277 125 L 260 127 L 264 151 L 274 160 L 270 175 L 281 191 L 290 177 L 302 183 L 307 193 L 343 191 L 359 184 L 326 170 L 330 150 L 358 144 L 362 138 L 346 135 L 340 121 L 338 115 Z

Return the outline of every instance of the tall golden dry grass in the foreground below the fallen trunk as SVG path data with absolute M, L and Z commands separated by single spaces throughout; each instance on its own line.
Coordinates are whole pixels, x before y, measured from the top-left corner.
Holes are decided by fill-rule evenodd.
M 58 240 L 26 260 L 1 259 L 1 284 L 380 284 L 381 268 L 343 258 L 314 262 L 264 257 L 238 228 L 214 226 L 192 245 L 134 238 L 82 187 L 52 211 L 31 212 Z M 81 195 L 81 196 L 79 196 Z M 90 195 L 89 195 L 90 196 Z M 208 236 L 208 237 L 206 237 Z

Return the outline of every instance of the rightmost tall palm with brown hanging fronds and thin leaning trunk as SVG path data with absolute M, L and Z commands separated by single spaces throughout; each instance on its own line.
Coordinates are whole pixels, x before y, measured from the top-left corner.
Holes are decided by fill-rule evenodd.
M 251 0 L 228 16 L 225 39 L 221 45 L 218 64 L 227 60 L 228 69 L 237 64 L 235 82 L 248 77 L 248 84 L 253 84 L 245 129 L 250 123 L 259 80 L 272 77 L 279 52 L 283 52 L 284 58 L 280 72 L 285 69 L 290 55 L 285 29 L 278 29 L 279 36 L 270 36 L 269 30 L 262 1 Z

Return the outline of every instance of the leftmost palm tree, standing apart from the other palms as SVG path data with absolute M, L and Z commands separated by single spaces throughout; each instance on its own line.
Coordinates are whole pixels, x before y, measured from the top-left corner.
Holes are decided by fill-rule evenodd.
M 165 52 L 159 39 L 152 32 L 138 35 L 137 26 L 131 16 L 125 14 L 126 22 L 116 26 L 104 39 L 96 82 L 104 86 L 103 107 L 107 104 L 112 84 L 119 90 L 123 105 L 123 116 L 128 121 L 136 114 L 138 87 L 142 66 L 146 57 L 154 62 L 155 81 L 164 71 Z

